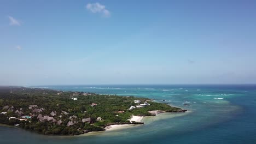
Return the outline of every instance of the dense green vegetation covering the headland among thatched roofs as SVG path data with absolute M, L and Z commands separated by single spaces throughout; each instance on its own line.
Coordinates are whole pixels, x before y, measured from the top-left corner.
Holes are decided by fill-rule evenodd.
M 77 100 L 74 100 L 77 98 Z M 140 100 L 148 106 L 129 108 Z M 97 105 L 92 106 L 92 103 Z M 30 105 L 37 105 L 29 109 Z M 10 108 L 13 106 L 13 108 Z M 4 108 L 5 107 L 5 108 Z M 8 108 L 8 109 L 7 109 Z M 33 112 L 34 109 L 43 108 L 42 112 Z M 46 135 L 79 135 L 89 131 L 104 130 L 109 124 L 131 124 L 128 120 L 132 115 L 152 116 L 148 111 L 162 110 L 166 112 L 181 112 L 177 107 L 167 104 L 154 103 L 147 98 L 119 97 L 117 95 L 100 95 L 84 92 L 62 92 L 50 89 L 26 87 L 0 87 L 0 123 L 16 125 L 27 130 L 38 131 Z M 22 114 L 16 112 L 22 112 Z M 63 113 L 66 112 L 66 113 Z M 16 112 L 16 113 L 15 113 Z M 55 115 L 51 116 L 50 113 Z M 39 114 L 49 116 L 51 120 L 40 121 Z M 26 121 L 17 118 L 30 116 Z M 10 117 L 15 117 L 9 119 Z M 83 119 L 89 121 L 83 122 Z M 22 119 L 21 119 L 22 120 Z M 24 118 L 23 118 L 24 120 Z M 57 123 L 61 121 L 61 123 Z M 74 124 L 68 125 L 73 122 Z

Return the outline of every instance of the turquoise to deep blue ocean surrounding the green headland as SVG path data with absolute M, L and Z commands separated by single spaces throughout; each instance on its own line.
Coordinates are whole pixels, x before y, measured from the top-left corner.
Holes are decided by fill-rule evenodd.
M 256 85 L 36 87 L 147 97 L 189 112 L 164 113 L 144 118 L 144 125 L 80 136 L 45 136 L 1 126 L 0 143 L 256 143 Z

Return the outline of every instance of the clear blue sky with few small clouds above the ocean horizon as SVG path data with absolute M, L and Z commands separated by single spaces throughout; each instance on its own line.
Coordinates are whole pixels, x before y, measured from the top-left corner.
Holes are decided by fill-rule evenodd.
M 0 1 L 0 85 L 256 83 L 255 1 Z

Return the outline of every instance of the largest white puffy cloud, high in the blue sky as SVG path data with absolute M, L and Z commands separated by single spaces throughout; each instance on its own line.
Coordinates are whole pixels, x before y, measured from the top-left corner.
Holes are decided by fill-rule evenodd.
M 110 17 L 109 10 L 106 9 L 105 5 L 100 3 L 88 3 L 86 9 L 90 10 L 92 13 L 100 13 L 104 17 Z

